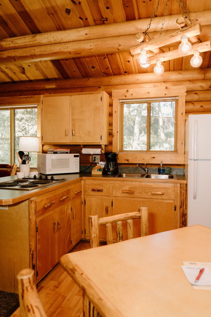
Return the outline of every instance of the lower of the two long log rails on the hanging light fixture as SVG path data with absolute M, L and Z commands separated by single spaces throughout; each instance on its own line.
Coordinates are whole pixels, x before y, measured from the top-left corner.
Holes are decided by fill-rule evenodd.
M 211 42 L 210 41 L 197 43 L 197 44 L 192 45 L 191 51 L 185 56 L 193 55 L 193 53 L 195 51 L 199 51 L 200 53 L 202 53 L 202 52 L 207 52 L 210 50 L 211 50 Z M 179 53 L 178 49 L 174 49 L 174 50 L 169 51 L 169 52 L 150 56 L 148 64 L 150 64 L 150 65 L 155 64 L 157 60 L 169 61 L 171 59 L 180 58 L 180 57 L 183 57 L 183 55 L 181 55 Z

